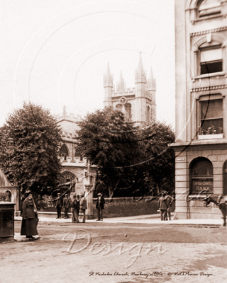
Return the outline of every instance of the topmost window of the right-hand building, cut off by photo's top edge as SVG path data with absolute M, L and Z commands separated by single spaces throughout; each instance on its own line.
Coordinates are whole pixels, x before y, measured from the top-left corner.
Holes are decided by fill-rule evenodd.
M 221 14 L 221 0 L 203 0 L 198 3 L 199 18 Z

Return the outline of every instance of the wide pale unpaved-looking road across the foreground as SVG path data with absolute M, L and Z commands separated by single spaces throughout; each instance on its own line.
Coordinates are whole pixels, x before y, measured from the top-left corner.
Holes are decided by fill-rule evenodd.
M 1 283 L 226 282 L 226 227 L 43 222 L 38 232 L 0 244 Z

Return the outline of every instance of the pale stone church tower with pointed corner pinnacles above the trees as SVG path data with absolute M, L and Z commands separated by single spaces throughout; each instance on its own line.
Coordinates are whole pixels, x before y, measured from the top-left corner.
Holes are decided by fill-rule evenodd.
M 149 122 L 156 119 L 155 105 L 156 81 L 151 69 L 150 79 L 146 79 L 140 53 L 138 68 L 135 71 L 135 87 L 126 88 L 122 73 L 113 85 L 113 76 L 110 73 L 109 63 L 104 75 L 104 106 L 112 106 L 121 110 L 126 118 L 135 123 Z

